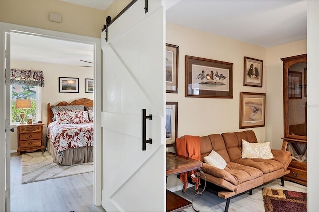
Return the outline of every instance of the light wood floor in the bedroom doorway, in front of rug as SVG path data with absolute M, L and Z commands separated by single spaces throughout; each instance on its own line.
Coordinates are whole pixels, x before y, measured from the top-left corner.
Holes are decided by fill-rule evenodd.
M 11 154 L 11 212 L 105 212 L 93 204 L 93 172 L 21 184 L 21 158 Z

